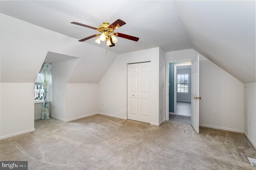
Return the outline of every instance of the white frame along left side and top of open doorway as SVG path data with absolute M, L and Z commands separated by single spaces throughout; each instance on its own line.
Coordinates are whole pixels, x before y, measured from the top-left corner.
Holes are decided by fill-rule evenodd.
M 165 82 L 166 82 L 166 94 L 165 94 L 165 119 L 166 121 L 169 120 L 169 64 L 170 63 L 176 63 L 176 62 L 186 62 L 186 61 L 192 61 L 194 58 L 190 58 L 190 59 L 181 59 L 181 60 L 169 60 L 166 61 L 166 78 L 165 78 Z M 174 81 L 175 83 L 175 81 Z M 174 84 L 175 87 L 175 84 Z M 175 92 L 175 91 L 174 91 Z M 175 93 L 174 93 L 174 100 L 175 100 Z M 174 114 L 176 113 L 176 102 L 174 103 Z

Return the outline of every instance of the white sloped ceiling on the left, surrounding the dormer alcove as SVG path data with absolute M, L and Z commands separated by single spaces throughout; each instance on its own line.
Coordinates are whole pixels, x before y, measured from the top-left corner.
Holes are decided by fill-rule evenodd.
M 1 82 L 34 83 L 44 61 L 78 57 L 68 82 L 98 83 L 118 56 L 4 14 L 0 14 L 0 39 Z

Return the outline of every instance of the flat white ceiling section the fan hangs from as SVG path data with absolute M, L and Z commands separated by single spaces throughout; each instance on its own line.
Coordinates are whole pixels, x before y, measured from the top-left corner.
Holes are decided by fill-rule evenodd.
M 126 25 L 116 32 L 139 37 L 138 42 L 118 37 L 115 53 L 127 53 L 161 47 L 164 51 L 190 49 L 188 36 L 172 1 L 78 0 L 78 1 L 1 1 L 0 12 L 32 24 L 83 39 L 99 33 L 94 29 L 71 24 L 76 21 L 98 27 L 117 19 Z M 98 45 L 96 38 L 83 43 Z

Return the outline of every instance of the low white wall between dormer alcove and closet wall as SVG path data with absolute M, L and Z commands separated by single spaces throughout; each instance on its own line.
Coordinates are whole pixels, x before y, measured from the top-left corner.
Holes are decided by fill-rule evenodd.
M 66 90 L 66 121 L 98 112 L 98 84 L 67 83 Z

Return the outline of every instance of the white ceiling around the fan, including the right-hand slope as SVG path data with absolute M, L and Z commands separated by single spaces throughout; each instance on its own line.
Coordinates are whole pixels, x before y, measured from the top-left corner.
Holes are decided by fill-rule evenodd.
M 97 31 L 72 21 L 98 27 L 121 19 L 126 25 L 116 31 L 140 40 L 118 37 L 110 51 L 193 48 L 241 82 L 255 82 L 255 1 L 0 1 L 0 12 L 75 39 Z M 95 39 L 83 43 L 106 48 Z

